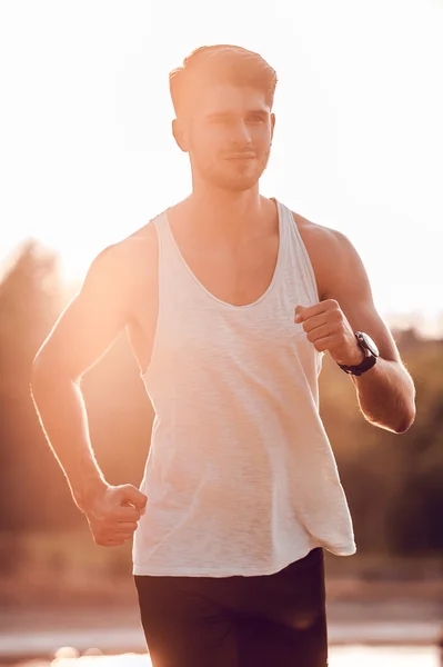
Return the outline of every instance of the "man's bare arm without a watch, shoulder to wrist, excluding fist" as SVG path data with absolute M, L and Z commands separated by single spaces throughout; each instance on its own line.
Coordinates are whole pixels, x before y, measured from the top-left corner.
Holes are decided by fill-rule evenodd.
M 128 242 L 111 246 L 97 257 L 32 368 L 31 391 L 37 411 L 81 510 L 90 497 L 108 485 L 91 448 L 80 379 L 131 317 L 134 290 L 129 266 Z

